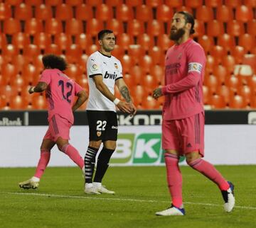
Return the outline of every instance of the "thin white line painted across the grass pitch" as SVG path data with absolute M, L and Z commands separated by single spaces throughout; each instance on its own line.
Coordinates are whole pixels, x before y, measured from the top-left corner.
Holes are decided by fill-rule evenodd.
M 131 202 L 143 202 L 143 203 L 170 203 L 170 201 L 163 200 L 138 200 L 138 199 L 125 199 L 125 198 L 102 198 L 95 195 L 95 197 L 90 196 L 79 196 L 79 195 L 54 195 L 54 194 L 45 194 L 45 193 L 11 193 L 11 192 L 0 192 L 11 195 L 36 195 L 41 197 L 55 197 L 55 198 L 73 198 L 73 199 L 89 199 L 89 200 L 110 200 L 110 201 L 131 201 Z M 185 202 L 184 204 L 191 205 L 203 205 L 209 207 L 223 207 L 223 205 L 213 204 L 213 203 L 193 203 Z M 247 207 L 247 206 L 235 206 L 235 208 L 246 209 L 246 210 L 256 210 L 256 207 Z

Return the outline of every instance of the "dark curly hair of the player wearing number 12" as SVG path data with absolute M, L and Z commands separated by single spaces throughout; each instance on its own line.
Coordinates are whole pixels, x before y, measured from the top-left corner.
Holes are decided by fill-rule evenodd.
M 65 59 L 63 57 L 60 57 L 58 55 L 44 55 L 43 56 L 43 66 L 46 68 L 51 68 L 51 69 L 59 69 L 61 71 L 64 71 L 68 67 L 68 63 L 65 62 Z

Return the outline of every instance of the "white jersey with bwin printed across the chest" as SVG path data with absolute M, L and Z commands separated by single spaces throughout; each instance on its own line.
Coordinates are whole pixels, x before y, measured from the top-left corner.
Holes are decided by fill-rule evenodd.
M 103 55 L 101 52 L 94 52 L 87 60 L 87 77 L 89 83 L 89 99 L 87 110 L 112 110 L 116 107 L 112 101 L 106 98 L 95 86 L 92 79 L 95 75 L 102 75 L 103 82 L 114 94 L 114 85 L 117 79 L 122 78 L 121 62 L 114 56 Z

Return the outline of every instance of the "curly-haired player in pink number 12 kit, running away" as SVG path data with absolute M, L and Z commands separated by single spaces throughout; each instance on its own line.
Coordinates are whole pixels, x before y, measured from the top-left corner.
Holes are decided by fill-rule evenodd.
M 63 73 L 68 64 L 62 57 L 45 55 L 43 56 L 43 65 L 45 69 L 38 84 L 32 86 L 28 92 L 41 93 L 46 91 L 49 127 L 43 137 L 41 157 L 35 175 L 28 181 L 19 183 L 21 188 L 26 189 L 38 188 L 40 178 L 50 160 L 50 149 L 55 144 L 85 173 L 84 161 L 78 150 L 69 144 L 68 139 L 70 139 L 70 127 L 74 122 L 73 111 L 77 110 L 87 100 L 87 93 L 73 79 Z M 75 96 L 78 96 L 76 101 Z

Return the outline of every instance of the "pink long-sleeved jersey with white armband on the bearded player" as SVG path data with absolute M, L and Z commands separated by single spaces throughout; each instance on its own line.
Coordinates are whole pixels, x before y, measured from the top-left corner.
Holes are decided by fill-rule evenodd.
M 189 39 L 166 53 L 163 108 L 165 120 L 178 120 L 203 112 L 203 76 L 206 55 L 201 45 Z

